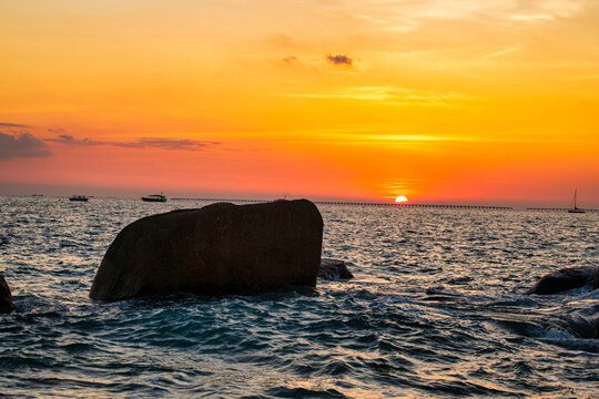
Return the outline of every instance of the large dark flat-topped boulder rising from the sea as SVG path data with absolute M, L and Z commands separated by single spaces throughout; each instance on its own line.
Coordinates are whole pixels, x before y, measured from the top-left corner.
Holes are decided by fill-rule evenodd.
M 323 218 L 306 200 L 217 203 L 133 222 L 110 245 L 92 299 L 255 294 L 316 285 Z

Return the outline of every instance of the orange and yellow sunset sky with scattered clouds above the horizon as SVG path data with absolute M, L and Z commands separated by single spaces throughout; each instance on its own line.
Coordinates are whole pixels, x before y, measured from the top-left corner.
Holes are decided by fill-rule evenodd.
M 0 0 L 0 194 L 599 207 L 598 21 L 592 0 Z

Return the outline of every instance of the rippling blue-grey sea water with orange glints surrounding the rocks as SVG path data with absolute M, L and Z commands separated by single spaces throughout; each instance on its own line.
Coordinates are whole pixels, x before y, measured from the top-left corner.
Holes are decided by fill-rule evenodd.
M 599 266 L 599 214 L 319 206 L 315 293 L 93 301 L 118 232 L 202 202 L 0 197 L 0 396 L 396 398 L 599 396 L 599 340 L 572 324 L 599 290 L 524 296 Z

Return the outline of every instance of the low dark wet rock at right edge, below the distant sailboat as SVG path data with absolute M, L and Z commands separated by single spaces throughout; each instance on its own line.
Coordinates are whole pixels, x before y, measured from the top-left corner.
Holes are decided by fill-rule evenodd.
M 557 272 L 542 276 L 541 279 L 538 280 L 525 294 L 548 295 L 561 293 L 572 288 L 580 288 L 592 283 L 596 272 L 596 267 L 593 266 L 561 268 Z

